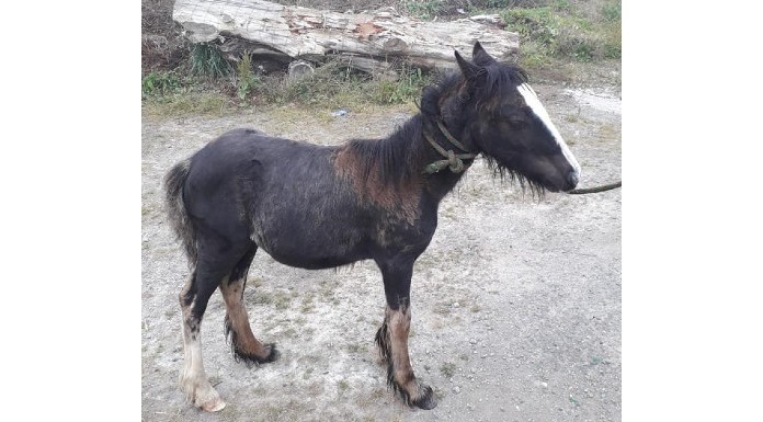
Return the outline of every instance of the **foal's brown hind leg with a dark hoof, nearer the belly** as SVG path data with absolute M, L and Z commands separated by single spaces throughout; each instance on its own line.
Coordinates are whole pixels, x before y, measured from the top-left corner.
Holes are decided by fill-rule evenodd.
M 247 366 L 273 362 L 278 358 L 275 343 L 263 344 L 252 333 L 243 306 L 243 289 L 247 287 L 247 273 L 254 259 L 257 246 L 236 264 L 227 280 L 220 284 L 220 293 L 227 308 L 225 315 L 225 332 L 230 338 L 230 346 L 236 360 L 242 360 Z

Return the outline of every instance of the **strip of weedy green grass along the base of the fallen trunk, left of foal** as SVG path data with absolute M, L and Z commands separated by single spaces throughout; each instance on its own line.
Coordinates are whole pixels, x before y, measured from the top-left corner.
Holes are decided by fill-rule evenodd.
M 191 70 L 185 77 L 181 77 L 180 69 L 145 76 L 144 107 L 156 114 L 176 115 L 235 113 L 241 107 L 265 104 L 340 109 L 348 104 L 411 103 L 434 77 L 405 64 L 397 66 L 397 79 L 371 76 L 352 70 L 340 60 L 328 60 L 301 78 L 258 75 L 249 55 L 236 66 L 223 65 L 219 60 L 225 59 L 219 52 L 213 53 L 215 48 L 208 44 L 194 47 L 186 66 Z

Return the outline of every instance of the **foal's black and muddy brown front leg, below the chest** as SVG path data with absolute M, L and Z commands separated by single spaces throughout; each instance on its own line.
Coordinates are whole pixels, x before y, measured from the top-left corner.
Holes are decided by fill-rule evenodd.
M 376 333 L 376 344 L 387 363 L 387 383 L 409 406 L 434 409 L 437 401 L 432 388 L 419 381 L 413 374 L 408 354 L 408 334 L 411 329 L 411 274 L 413 261 L 379 261 L 384 276 L 387 308 L 382 328 Z

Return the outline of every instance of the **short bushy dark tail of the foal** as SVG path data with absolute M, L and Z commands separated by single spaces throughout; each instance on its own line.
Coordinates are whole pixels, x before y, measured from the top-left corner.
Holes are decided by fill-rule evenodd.
M 185 209 L 183 201 L 183 185 L 189 178 L 189 169 L 191 169 L 191 159 L 185 159 L 176 163 L 164 176 L 164 196 L 167 203 L 167 214 L 174 229 L 178 239 L 182 240 L 185 247 L 185 254 L 189 258 L 189 265 L 196 267 L 196 231 L 189 219 L 189 213 Z

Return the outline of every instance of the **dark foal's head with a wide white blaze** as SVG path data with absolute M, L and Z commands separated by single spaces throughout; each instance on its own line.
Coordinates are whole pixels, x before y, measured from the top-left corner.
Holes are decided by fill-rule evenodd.
M 516 66 L 499 62 L 479 43 L 472 61 L 458 52 L 462 70 L 453 101 L 440 104 L 463 127 L 462 137 L 482 152 L 501 173 L 551 192 L 570 191 L 580 164 L 570 152 L 546 109 Z M 456 116 L 457 115 L 457 116 Z

